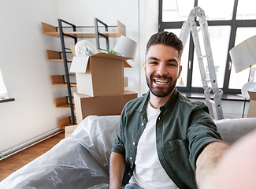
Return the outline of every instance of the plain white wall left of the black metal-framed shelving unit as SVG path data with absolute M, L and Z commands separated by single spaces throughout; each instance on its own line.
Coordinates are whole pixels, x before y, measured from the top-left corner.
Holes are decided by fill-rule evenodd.
M 50 83 L 63 63 L 46 60 L 46 49 L 60 42 L 43 35 L 41 27 L 41 21 L 58 24 L 57 18 L 52 0 L 1 2 L 0 68 L 15 101 L 0 103 L 0 152 L 58 128 L 58 120 L 70 114 L 54 105 L 54 98 L 67 95 L 65 87 Z

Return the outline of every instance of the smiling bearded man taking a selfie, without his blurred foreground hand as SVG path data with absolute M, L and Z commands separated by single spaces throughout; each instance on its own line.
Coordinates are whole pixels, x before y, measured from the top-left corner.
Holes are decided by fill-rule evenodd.
M 150 91 L 128 102 L 113 143 L 109 188 L 210 188 L 215 165 L 227 148 L 207 106 L 191 102 L 176 81 L 184 46 L 173 33 L 147 43 L 143 67 Z

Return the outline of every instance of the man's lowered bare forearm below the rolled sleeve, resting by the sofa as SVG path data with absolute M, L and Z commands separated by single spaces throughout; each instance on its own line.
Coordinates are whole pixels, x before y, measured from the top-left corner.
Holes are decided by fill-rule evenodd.
M 124 155 L 112 152 L 109 165 L 109 189 L 121 188 L 124 169 Z

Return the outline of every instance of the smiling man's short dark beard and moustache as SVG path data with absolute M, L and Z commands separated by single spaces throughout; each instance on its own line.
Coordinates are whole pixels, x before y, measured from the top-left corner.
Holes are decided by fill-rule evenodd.
M 169 87 L 153 87 L 153 82 L 154 82 L 153 78 L 169 80 Z M 176 86 L 176 82 L 178 78 L 176 78 L 176 80 L 173 80 L 172 77 L 165 76 L 165 75 L 164 76 L 151 75 L 149 78 L 146 74 L 146 80 L 147 80 L 147 86 L 150 88 L 150 91 L 153 95 L 157 97 L 165 97 L 173 91 L 173 89 Z

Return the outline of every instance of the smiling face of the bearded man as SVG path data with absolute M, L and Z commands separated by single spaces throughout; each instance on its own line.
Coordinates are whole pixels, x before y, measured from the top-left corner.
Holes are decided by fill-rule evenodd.
M 147 86 L 153 95 L 165 97 L 173 93 L 182 67 L 178 51 L 163 44 L 150 46 L 143 64 Z

